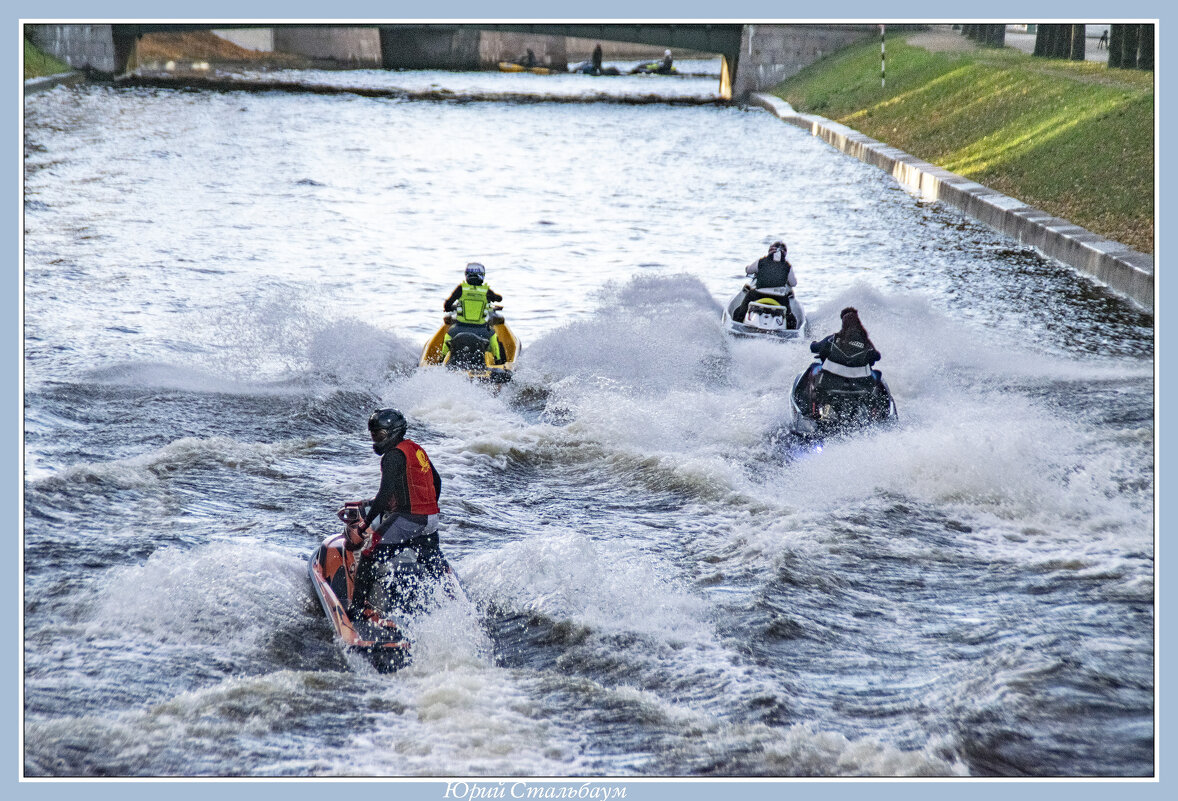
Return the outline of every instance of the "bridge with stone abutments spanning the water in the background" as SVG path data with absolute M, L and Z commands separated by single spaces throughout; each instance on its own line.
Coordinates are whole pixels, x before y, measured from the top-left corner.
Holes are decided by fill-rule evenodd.
M 127 72 L 135 42 L 148 33 L 270 28 L 280 33 L 282 49 L 300 53 L 299 42 L 324 31 L 369 31 L 378 37 L 373 66 L 388 68 L 477 69 L 483 66 L 484 33 L 594 39 L 714 53 L 721 58 L 720 97 L 743 100 L 806 64 L 872 35 L 868 25 L 748 25 L 702 22 L 127 22 L 112 25 L 28 25 L 26 34 L 39 47 L 75 68 L 113 75 Z M 322 44 L 322 35 L 319 42 Z M 373 47 L 376 49 L 376 47 Z M 302 52 L 303 54 L 307 54 Z M 563 54 L 562 54 L 563 58 Z

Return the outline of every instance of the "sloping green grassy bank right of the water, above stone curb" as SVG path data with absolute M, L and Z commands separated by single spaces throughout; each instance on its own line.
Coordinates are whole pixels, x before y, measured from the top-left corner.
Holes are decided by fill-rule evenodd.
M 1090 231 L 1153 252 L 1153 73 L 902 37 L 835 53 L 774 93 Z

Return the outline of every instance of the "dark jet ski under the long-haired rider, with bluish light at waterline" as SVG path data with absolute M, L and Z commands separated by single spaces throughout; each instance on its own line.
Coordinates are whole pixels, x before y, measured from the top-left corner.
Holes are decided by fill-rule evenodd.
M 795 441 L 821 444 L 828 436 L 898 419 L 895 399 L 879 370 L 872 370 L 874 382 L 868 388 L 853 388 L 849 383 L 820 386 L 821 372 L 821 362 L 815 362 L 794 378 L 789 391 L 789 433 Z

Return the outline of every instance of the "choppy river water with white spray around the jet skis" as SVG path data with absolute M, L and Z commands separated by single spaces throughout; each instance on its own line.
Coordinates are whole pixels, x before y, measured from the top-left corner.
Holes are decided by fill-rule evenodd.
M 1152 317 L 714 78 L 555 78 L 699 102 L 26 99 L 26 775 L 1152 774 Z M 720 316 L 777 238 L 894 430 L 770 444 L 808 340 Z M 470 260 L 498 393 L 417 369 Z M 383 405 L 468 595 L 395 675 L 307 578 Z

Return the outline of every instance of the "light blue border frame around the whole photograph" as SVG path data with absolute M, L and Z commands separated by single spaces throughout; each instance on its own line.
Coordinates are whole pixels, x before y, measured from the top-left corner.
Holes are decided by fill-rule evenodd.
M 1096 2 L 1093 0 L 1078 0 L 1074 2 L 1064 2 L 1061 0 L 1051 0 L 1047 2 L 1011 2 L 1010 0 L 1001 1 L 988 1 L 985 4 L 979 4 L 972 7 L 962 7 L 959 5 L 948 5 L 946 2 L 933 2 L 931 0 L 904 0 L 901 2 L 866 2 L 865 0 L 849 0 L 839 4 L 838 6 L 814 6 L 809 4 L 788 4 L 783 1 L 770 2 L 767 0 L 739 0 L 737 2 L 723 2 L 723 4 L 708 4 L 703 0 L 683 0 L 682 2 L 670 2 L 669 0 L 647 0 L 646 2 L 635 4 L 633 1 L 624 2 L 621 0 L 600 0 L 591 4 L 557 4 L 554 0 L 540 1 L 529 0 L 527 2 L 521 0 L 510 0 L 508 2 L 489 4 L 476 2 L 475 0 L 462 0 L 462 1 L 450 1 L 444 4 L 405 4 L 405 2 L 378 2 L 373 0 L 353 1 L 346 4 L 346 6 L 340 7 L 338 5 L 324 5 L 312 2 L 310 0 L 294 0 L 293 2 L 278 2 L 277 0 L 249 0 L 249 1 L 237 1 L 231 2 L 226 0 L 209 0 L 199 4 L 192 4 L 191 13 L 177 5 L 163 5 L 158 0 L 153 2 L 147 2 L 146 0 L 126 1 L 119 0 L 118 2 L 106 2 L 106 4 L 94 4 L 85 2 L 82 0 L 68 0 L 68 1 L 57 1 L 47 0 L 45 2 L 28 2 L 26 0 L 18 0 L 14 5 L 13 11 L 13 22 L 19 24 L 21 20 L 95 20 L 95 21 L 110 21 L 118 19 L 273 19 L 273 20 L 313 20 L 313 19 L 565 19 L 574 21 L 593 21 L 593 20 L 614 20 L 614 19 L 646 19 L 646 20 L 715 20 L 715 21 L 727 21 L 727 20 L 872 20 L 885 19 L 894 21 L 948 21 L 948 20 L 977 20 L 977 21 L 1019 21 L 1024 19 L 1084 19 L 1099 21 L 1101 19 L 1121 19 L 1121 20 L 1152 20 L 1157 19 L 1160 21 L 1158 32 L 1158 72 L 1157 75 L 1157 99 L 1158 99 L 1158 119 L 1159 130 L 1163 132 L 1170 132 L 1169 123 L 1171 121 L 1170 110 L 1163 106 L 1162 99 L 1164 92 L 1160 85 L 1162 71 L 1167 67 L 1167 57 L 1170 54 L 1167 49 L 1169 39 L 1169 27 L 1167 22 L 1173 19 L 1178 19 L 1178 15 L 1170 13 L 1166 14 L 1169 9 L 1164 8 L 1160 0 L 1150 0 L 1146 2 Z M 1172 2 L 1169 5 L 1173 5 Z M 336 14 L 327 15 L 324 11 L 330 9 L 337 12 Z M 815 12 L 827 12 L 829 16 L 818 16 Z M 971 14 L 977 14 L 977 16 L 971 16 Z M 11 29 L 11 35 L 14 37 L 12 40 L 16 45 L 16 59 L 20 60 L 20 32 Z M 13 150 L 19 154 L 22 152 L 22 145 L 19 135 L 19 114 L 20 114 L 20 84 L 9 84 L 9 87 L 5 92 L 5 98 L 8 101 L 6 107 L 16 111 L 16 120 L 11 128 L 13 132 L 12 141 Z M 1164 144 L 1164 139 L 1159 138 L 1159 143 Z M 1169 196 L 1172 194 L 1173 187 L 1173 168 L 1170 166 L 1171 161 L 1166 158 L 1164 152 L 1160 152 L 1159 145 L 1159 157 L 1158 163 L 1160 165 L 1159 181 L 1159 203 L 1158 203 L 1158 225 L 1157 225 L 1157 246 L 1156 252 L 1162 252 L 1163 247 L 1166 245 L 1165 233 L 1171 230 L 1169 224 L 1173 221 L 1172 208 L 1169 207 L 1167 200 Z M 9 186 L 13 187 L 15 199 L 15 217 L 16 220 L 21 220 L 21 199 L 16 187 L 19 187 L 20 181 L 20 157 L 15 159 L 15 164 L 9 166 L 9 174 L 12 177 Z M 15 251 L 16 258 L 19 260 L 19 231 L 20 229 L 13 225 L 7 227 L 6 239 L 11 238 L 11 250 Z M 1158 276 L 1157 285 L 1159 287 L 1158 302 L 1156 307 L 1156 320 L 1160 318 L 1163 309 L 1169 306 L 1167 299 L 1171 292 L 1167 290 L 1166 282 L 1163 280 L 1164 269 L 1160 264 L 1156 266 L 1156 272 Z M 7 488 L 7 494 L 11 495 L 9 508 L 13 510 L 14 517 L 19 517 L 20 514 L 20 464 L 19 456 L 21 449 L 21 437 L 20 437 L 20 421 L 22 410 L 22 398 L 20 396 L 20 384 L 19 376 L 21 370 L 21 331 L 19 324 L 19 289 L 20 289 L 20 271 L 14 270 L 14 292 L 6 302 L 5 310 L 5 322 L 11 325 L 16 338 L 16 347 L 14 349 L 14 370 L 9 375 L 7 386 L 11 386 L 11 396 L 13 398 L 15 409 L 14 417 L 15 422 L 11 423 L 8 428 L 5 429 L 2 435 L 2 441 L 7 445 L 7 452 L 11 455 L 11 461 L 7 463 L 8 468 L 6 474 L 11 472 L 11 477 L 5 482 Z M 13 286 L 13 285 L 11 285 Z M 11 316 L 11 317 L 9 317 Z M 1157 325 L 1157 330 L 1163 331 L 1162 325 Z M 1157 351 L 1156 351 L 1156 365 L 1158 368 L 1158 386 L 1157 386 L 1157 404 L 1162 408 L 1162 398 L 1166 397 L 1167 384 L 1166 373 L 1162 370 L 1164 355 L 1167 349 L 1164 347 L 1163 339 L 1157 339 Z M 1156 497 L 1166 497 L 1169 485 L 1171 482 L 1165 481 L 1166 476 L 1162 471 L 1162 454 L 1166 449 L 1169 443 L 1169 437 L 1165 435 L 1165 426 L 1158 425 L 1157 429 L 1157 462 L 1158 471 L 1156 474 Z M 18 519 L 16 528 L 16 547 L 20 547 L 20 525 Z M 1169 547 L 1176 547 L 1172 543 L 1166 542 L 1166 519 L 1162 515 L 1162 509 L 1159 504 L 1159 517 L 1156 531 L 1156 557 L 1162 552 L 1167 552 Z M 65 545 L 67 547 L 67 545 Z M 18 571 L 19 572 L 19 571 Z M 1169 603 L 1169 595 L 1163 587 L 1160 580 L 1160 562 L 1156 564 L 1156 582 L 1159 588 L 1159 605 L 1157 609 L 1158 620 L 1160 621 L 1159 638 L 1157 641 L 1156 658 L 1158 664 L 1163 668 L 1167 668 L 1170 649 L 1166 647 L 1169 644 L 1169 637 L 1166 636 L 1172 625 L 1170 625 L 1172 603 Z M 19 608 L 20 598 L 20 576 L 18 575 L 14 582 L 14 610 Z M 155 799 L 164 796 L 168 801 L 178 801 L 179 799 L 207 799 L 209 796 L 216 795 L 219 797 L 232 796 L 232 797 L 249 797 L 250 795 L 280 795 L 283 801 L 289 799 L 303 799 L 303 797 L 322 797 L 323 794 L 330 793 L 337 795 L 339 793 L 359 793 L 359 794 L 372 794 L 382 793 L 388 794 L 389 797 L 396 799 L 396 801 L 416 801 L 417 799 L 443 799 L 445 793 L 445 783 L 443 781 L 391 781 L 388 783 L 380 783 L 378 787 L 373 787 L 372 782 L 364 780 L 339 780 L 339 781 L 320 781 L 320 780 L 292 780 L 292 781 L 280 781 L 280 780 L 243 780 L 243 781 L 230 781 L 230 780 L 192 780 L 192 781 L 120 781 L 120 780 L 93 780 L 85 782 L 74 781 L 37 781 L 37 782 L 19 782 L 19 777 L 22 769 L 22 756 L 19 750 L 18 729 L 19 729 L 19 715 L 20 715 L 20 676 L 18 668 L 18 656 L 19 656 L 19 643 L 20 633 L 18 630 L 18 617 L 15 614 L 7 618 L 4 625 L 5 642 L 14 646 L 11 653 L 11 658 L 8 661 L 9 670 L 12 671 L 12 686 L 15 689 L 12 696 L 12 716 L 11 724 L 6 727 L 7 741 L 11 742 L 11 748 L 5 749 L 5 754 L 9 755 L 8 764 L 12 766 L 13 772 L 6 777 L 5 785 L 8 786 L 8 792 L 15 792 L 19 797 L 70 797 L 74 799 L 79 794 L 85 794 L 87 799 L 97 799 L 98 801 L 105 801 L 105 799 Z M 1170 772 L 1174 768 L 1173 763 L 1166 757 L 1172 754 L 1173 748 L 1167 748 L 1166 746 L 1172 743 L 1173 737 L 1167 739 L 1167 729 L 1162 724 L 1163 720 L 1171 720 L 1171 716 L 1166 713 L 1172 706 L 1169 703 L 1169 699 L 1172 694 L 1172 686 L 1169 684 L 1166 678 L 1169 677 L 1171 670 L 1166 669 L 1164 673 L 1159 673 L 1158 677 L 1158 707 L 1157 707 L 1157 742 L 1158 742 L 1158 776 L 1159 781 L 1139 781 L 1139 780 L 1117 780 L 1117 781 L 1103 781 L 1103 780 L 1079 780 L 1079 781 L 1053 781 L 1053 780 L 1035 780 L 1035 781 L 1019 781 L 1019 780 L 829 780 L 829 781 L 805 781 L 805 780 L 686 780 L 686 781 L 602 781 L 593 782 L 595 786 L 618 786 L 627 788 L 627 799 L 674 799 L 675 801 L 695 801 L 696 799 L 714 799 L 720 795 L 737 795 L 742 801 L 746 799 L 749 801 L 760 801 L 770 799 L 787 799 L 787 797 L 821 797 L 827 799 L 842 799 L 842 797 L 869 797 L 869 799 L 904 799 L 905 801 L 916 801 L 918 799 L 945 799 L 951 796 L 957 799 L 980 799 L 980 797 L 993 797 L 1004 796 L 1004 801 L 1013 799 L 1031 799 L 1038 801 L 1045 795 L 1059 795 L 1061 797 L 1067 797 L 1068 801 L 1073 799 L 1100 799 L 1101 801 L 1108 799 L 1110 796 L 1145 796 L 1145 797 L 1162 797 L 1163 788 L 1165 786 L 1171 786 L 1171 793 L 1173 793 L 1174 781 L 1170 777 Z M 1170 691 L 1163 691 L 1170 690 Z M 1171 733 L 1172 734 L 1172 733 Z M 1167 781 L 1169 780 L 1169 781 Z M 508 780 L 509 782 L 511 780 Z M 528 780 L 529 785 L 560 785 L 565 787 L 580 787 L 581 781 L 554 781 L 544 782 L 540 780 Z M 11 783 L 9 783 L 11 782 Z M 490 783 L 488 780 L 481 780 L 482 783 Z M 265 786 L 262 786 L 265 785 Z M 330 785 L 330 786 L 327 786 Z M 348 785 L 352 785 L 349 787 Z M 7 793 L 6 793 L 7 794 Z

